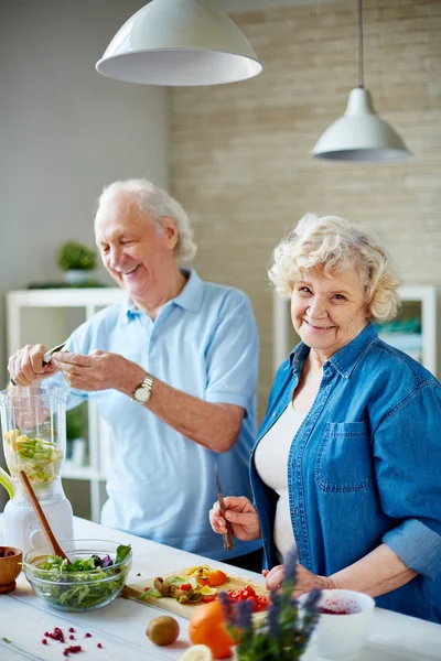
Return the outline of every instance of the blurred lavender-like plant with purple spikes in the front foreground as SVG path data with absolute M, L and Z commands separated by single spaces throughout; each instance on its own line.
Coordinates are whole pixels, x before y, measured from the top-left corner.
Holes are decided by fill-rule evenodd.
M 236 602 L 220 593 L 227 630 L 236 641 L 237 661 L 294 661 L 301 659 L 320 617 L 320 590 L 308 594 L 300 606 L 292 596 L 297 579 L 298 554 L 293 550 L 284 564 L 284 581 L 271 590 L 268 617 L 263 626 L 252 621 L 250 600 Z

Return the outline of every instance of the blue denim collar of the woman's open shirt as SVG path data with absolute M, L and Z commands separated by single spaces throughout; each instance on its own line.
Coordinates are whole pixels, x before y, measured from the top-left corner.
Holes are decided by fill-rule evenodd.
M 326 362 L 331 364 L 337 372 L 348 379 L 358 362 L 362 358 L 363 354 L 367 351 L 369 346 L 378 338 L 378 334 L 375 329 L 375 326 L 372 322 L 363 328 L 362 333 L 359 333 L 353 340 L 351 340 L 347 345 L 335 351 L 333 356 Z M 303 342 L 297 345 L 297 347 L 290 354 L 290 365 L 292 367 L 292 371 L 295 373 L 300 373 L 303 362 L 310 351 L 310 347 L 308 347 Z M 326 362 L 324 365 L 326 365 Z

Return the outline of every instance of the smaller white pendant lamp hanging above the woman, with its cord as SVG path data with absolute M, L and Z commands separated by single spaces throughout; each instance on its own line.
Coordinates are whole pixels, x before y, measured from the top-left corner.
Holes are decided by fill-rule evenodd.
M 398 133 L 374 110 L 364 87 L 363 7 L 358 0 L 358 87 L 349 94 L 346 112 L 326 129 L 311 154 L 330 161 L 400 161 L 411 152 Z

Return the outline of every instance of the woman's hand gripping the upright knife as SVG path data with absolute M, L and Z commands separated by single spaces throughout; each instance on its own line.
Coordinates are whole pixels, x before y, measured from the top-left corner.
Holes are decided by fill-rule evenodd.
M 224 498 L 225 519 L 220 513 L 218 502 L 209 510 L 209 523 L 215 532 L 223 534 L 227 531 L 226 521 L 233 527 L 233 533 L 238 540 L 248 542 L 260 538 L 260 522 L 255 506 L 245 496 L 227 496 Z

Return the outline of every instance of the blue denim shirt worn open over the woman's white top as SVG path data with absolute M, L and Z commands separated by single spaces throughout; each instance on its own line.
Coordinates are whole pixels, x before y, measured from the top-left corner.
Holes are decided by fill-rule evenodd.
M 300 343 L 279 368 L 254 452 L 288 405 L 309 351 Z M 369 323 L 324 362 L 287 470 L 304 567 L 330 576 L 386 543 L 419 575 L 377 605 L 441 621 L 441 384 L 427 369 Z M 252 458 L 250 479 L 272 567 L 278 497 Z

